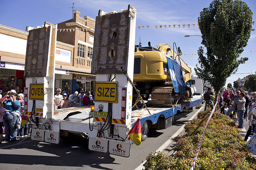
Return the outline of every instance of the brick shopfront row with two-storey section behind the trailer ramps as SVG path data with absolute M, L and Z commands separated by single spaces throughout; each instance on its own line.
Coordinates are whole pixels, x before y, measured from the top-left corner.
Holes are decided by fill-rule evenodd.
M 95 19 L 79 16 L 58 24 L 55 51 L 55 87 L 74 93 L 76 88 L 93 91 L 95 75 L 91 75 Z M 9 91 L 16 84 L 25 87 L 24 65 L 28 32 L 0 25 L 0 89 Z M 86 78 L 86 83 L 81 79 Z M 17 89 L 16 89 L 17 90 Z

